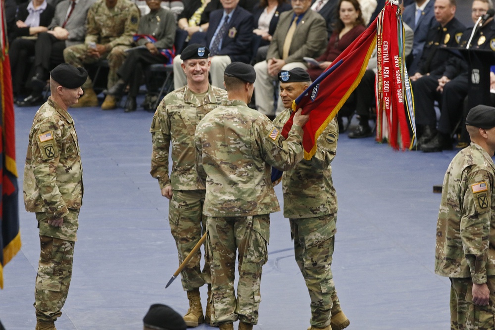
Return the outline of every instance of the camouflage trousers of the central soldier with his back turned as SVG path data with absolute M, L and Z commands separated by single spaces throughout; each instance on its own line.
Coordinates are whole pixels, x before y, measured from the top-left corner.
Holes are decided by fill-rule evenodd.
M 268 259 L 270 215 L 250 217 L 208 217 L 212 312 L 214 323 L 258 323 L 261 301 L 261 268 Z M 236 252 L 239 250 L 239 283 L 234 291 Z

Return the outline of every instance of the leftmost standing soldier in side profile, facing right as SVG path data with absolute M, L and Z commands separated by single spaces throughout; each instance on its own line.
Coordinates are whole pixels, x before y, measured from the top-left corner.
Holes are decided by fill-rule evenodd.
M 53 330 L 72 276 L 83 198 L 83 169 L 67 108 L 83 94 L 88 73 L 63 63 L 50 72 L 51 96 L 36 112 L 24 167 L 24 205 L 36 212 L 41 253 L 36 276 L 36 330 Z

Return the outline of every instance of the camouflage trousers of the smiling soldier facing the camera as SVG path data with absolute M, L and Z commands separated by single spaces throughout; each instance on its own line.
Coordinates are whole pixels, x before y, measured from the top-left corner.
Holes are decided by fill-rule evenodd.
M 174 190 L 173 192 L 168 220 L 179 252 L 179 265 L 186 259 L 206 230 L 206 218 L 202 216 L 204 193 L 205 190 Z M 204 254 L 202 271 L 200 249 L 182 270 L 184 290 L 191 291 L 204 283 L 211 283 L 210 258 L 206 247 Z

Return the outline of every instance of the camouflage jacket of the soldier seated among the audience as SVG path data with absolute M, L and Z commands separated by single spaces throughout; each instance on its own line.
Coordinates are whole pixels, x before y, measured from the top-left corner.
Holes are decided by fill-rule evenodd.
M 85 44 L 106 45 L 107 50 L 118 45 L 131 46 L 139 16 L 138 7 L 129 0 L 118 0 L 112 9 L 108 9 L 105 0 L 98 0 L 88 11 Z

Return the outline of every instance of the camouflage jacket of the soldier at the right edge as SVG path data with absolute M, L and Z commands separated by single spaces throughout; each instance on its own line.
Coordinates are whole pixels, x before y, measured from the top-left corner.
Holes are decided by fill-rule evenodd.
M 495 165 L 479 145 L 461 150 L 444 178 L 437 222 L 435 273 L 471 278 L 495 275 Z

